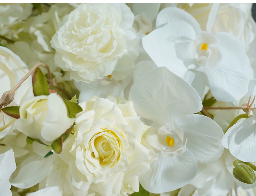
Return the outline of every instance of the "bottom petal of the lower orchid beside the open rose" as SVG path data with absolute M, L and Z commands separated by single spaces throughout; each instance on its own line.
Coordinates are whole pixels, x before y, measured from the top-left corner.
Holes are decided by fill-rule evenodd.
M 190 150 L 181 156 L 165 157 L 158 152 L 158 161 L 150 164 L 150 171 L 139 176 L 142 187 L 151 193 L 164 193 L 189 183 L 197 172 L 197 161 Z

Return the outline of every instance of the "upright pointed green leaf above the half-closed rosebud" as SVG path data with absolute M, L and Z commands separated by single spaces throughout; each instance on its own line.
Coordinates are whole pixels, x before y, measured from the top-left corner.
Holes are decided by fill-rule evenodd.
M 49 95 L 49 87 L 45 75 L 39 67 L 35 70 L 32 78 L 34 96 Z

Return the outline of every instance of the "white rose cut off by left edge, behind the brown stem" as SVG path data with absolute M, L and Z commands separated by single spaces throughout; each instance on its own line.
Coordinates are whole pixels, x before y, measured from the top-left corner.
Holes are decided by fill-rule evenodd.
M 11 50 L 0 46 L 0 96 L 4 92 L 9 91 L 22 79 L 28 72 L 27 65 Z M 33 95 L 32 78 L 27 78 L 15 93 L 14 100 L 8 106 L 20 105 L 28 96 Z M 5 117 L 5 125 L 3 125 L 3 112 L 0 114 L 0 138 L 4 137 L 11 130 L 12 124 L 16 119 L 13 117 Z

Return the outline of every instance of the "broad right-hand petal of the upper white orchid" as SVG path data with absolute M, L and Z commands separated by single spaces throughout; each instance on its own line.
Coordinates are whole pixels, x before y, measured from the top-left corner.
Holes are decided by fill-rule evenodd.
M 219 101 L 236 101 L 247 93 L 253 70 L 245 50 L 239 40 L 226 32 L 215 34 L 221 51 L 221 63 L 216 66 L 201 66 L 209 80 L 213 96 Z

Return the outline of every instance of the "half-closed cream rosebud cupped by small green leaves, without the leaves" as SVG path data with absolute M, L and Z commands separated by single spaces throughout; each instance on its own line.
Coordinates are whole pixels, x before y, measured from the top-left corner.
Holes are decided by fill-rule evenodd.
M 16 129 L 25 135 L 51 144 L 73 125 L 67 116 L 67 107 L 56 93 L 30 97 L 19 108 Z

